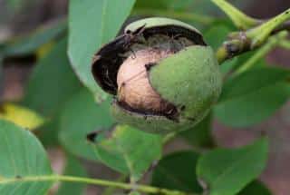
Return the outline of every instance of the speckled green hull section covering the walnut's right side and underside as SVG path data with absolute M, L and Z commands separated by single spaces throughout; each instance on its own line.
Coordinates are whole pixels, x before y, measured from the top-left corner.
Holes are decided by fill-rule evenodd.
M 150 83 L 179 111 L 176 120 L 131 112 L 113 102 L 112 115 L 122 123 L 153 133 L 178 132 L 200 122 L 218 101 L 222 74 L 211 47 L 193 45 L 163 59 L 150 69 Z

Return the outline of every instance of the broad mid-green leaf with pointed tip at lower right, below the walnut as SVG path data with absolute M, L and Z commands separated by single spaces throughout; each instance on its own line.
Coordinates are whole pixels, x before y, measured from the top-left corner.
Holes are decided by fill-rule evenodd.
M 198 160 L 197 174 L 208 186 L 210 195 L 234 195 L 266 167 L 266 139 L 240 149 L 209 151 Z

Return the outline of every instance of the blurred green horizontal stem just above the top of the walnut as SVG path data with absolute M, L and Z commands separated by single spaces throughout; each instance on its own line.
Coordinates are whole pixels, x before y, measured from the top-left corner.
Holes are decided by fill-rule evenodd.
M 179 18 L 181 20 L 195 21 L 200 24 L 211 24 L 215 21 L 214 18 L 208 15 L 197 15 L 187 12 L 160 10 L 160 9 L 136 9 L 131 15 L 163 15 L 169 17 Z

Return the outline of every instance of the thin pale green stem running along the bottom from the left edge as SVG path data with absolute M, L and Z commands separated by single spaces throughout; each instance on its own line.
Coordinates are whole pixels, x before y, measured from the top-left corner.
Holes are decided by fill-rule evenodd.
M 129 184 L 111 180 L 99 180 L 66 175 L 27 176 L 23 178 L 2 179 L 0 180 L 0 184 L 10 184 L 14 182 L 24 182 L 24 181 L 68 181 L 68 182 L 114 187 L 123 190 L 138 190 L 144 193 L 163 194 L 163 195 L 189 195 L 189 193 L 179 190 L 160 189 L 147 185 Z M 190 193 L 190 195 L 198 195 L 198 194 Z

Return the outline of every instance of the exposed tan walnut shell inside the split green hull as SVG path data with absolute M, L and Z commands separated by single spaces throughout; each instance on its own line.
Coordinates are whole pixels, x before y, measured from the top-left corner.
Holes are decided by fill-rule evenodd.
M 141 112 L 166 112 L 170 103 L 163 100 L 150 84 L 148 67 L 159 63 L 172 52 L 145 49 L 131 54 L 122 64 L 117 75 L 118 101 Z M 146 67 L 147 66 L 147 67 Z

